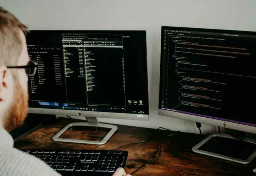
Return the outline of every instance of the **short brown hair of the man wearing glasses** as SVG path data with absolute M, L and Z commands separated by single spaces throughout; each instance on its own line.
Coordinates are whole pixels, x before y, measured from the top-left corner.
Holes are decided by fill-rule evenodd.
M 22 52 L 20 32 L 27 27 L 0 6 L 0 66 L 15 66 Z

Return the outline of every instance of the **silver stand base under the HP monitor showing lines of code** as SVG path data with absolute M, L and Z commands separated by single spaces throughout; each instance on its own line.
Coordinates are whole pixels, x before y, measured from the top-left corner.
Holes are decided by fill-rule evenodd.
M 214 133 L 192 148 L 196 153 L 248 164 L 256 157 L 256 141 L 229 134 Z

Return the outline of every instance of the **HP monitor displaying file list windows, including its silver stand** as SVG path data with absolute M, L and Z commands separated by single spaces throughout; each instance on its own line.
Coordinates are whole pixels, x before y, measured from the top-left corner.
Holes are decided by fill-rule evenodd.
M 29 112 L 85 116 L 56 141 L 103 144 L 117 130 L 100 118 L 149 120 L 146 31 L 30 31 L 37 73 L 29 78 Z M 58 138 L 69 126 L 109 127 L 102 141 Z

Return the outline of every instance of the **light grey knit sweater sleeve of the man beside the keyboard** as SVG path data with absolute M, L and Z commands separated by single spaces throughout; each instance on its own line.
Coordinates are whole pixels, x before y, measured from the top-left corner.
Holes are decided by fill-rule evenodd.
M 15 148 L 0 149 L 0 176 L 61 176 L 39 158 Z

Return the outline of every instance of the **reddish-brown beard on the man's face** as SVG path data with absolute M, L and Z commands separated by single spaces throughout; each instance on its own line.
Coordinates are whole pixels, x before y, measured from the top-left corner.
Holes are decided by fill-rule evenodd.
M 24 91 L 18 80 L 14 81 L 14 98 L 4 119 L 3 127 L 10 132 L 16 127 L 22 126 L 27 116 L 29 95 Z

